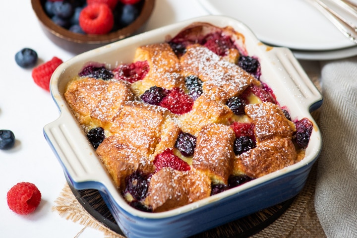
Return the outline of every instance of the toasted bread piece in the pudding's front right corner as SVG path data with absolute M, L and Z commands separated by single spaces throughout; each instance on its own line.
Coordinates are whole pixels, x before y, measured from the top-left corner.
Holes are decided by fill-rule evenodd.
M 297 162 L 297 152 L 290 138 L 275 137 L 258 143 L 253 149 L 237 156 L 234 174 L 241 171 L 251 178 L 258 178 Z

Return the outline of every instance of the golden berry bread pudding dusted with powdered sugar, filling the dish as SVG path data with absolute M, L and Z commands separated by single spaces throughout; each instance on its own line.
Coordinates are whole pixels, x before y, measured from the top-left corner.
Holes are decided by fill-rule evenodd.
M 64 98 L 125 200 L 162 212 L 293 165 L 313 124 L 292 119 L 233 28 L 194 23 L 114 68 L 90 62 Z M 239 44 L 240 45 L 240 44 Z

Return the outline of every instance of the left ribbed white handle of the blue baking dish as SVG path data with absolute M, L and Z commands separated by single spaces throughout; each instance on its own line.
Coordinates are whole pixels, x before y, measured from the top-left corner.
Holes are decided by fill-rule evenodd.
M 45 125 L 43 129 L 67 178 L 76 189 L 100 189 L 102 184 L 111 184 L 108 174 L 101 169 L 103 165 L 93 146 L 77 122 L 68 115 L 62 113 L 60 118 Z M 95 184 L 93 181 L 96 181 Z

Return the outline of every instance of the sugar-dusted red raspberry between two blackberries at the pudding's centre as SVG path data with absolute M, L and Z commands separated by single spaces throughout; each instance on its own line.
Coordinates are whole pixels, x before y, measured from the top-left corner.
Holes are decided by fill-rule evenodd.
M 182 115 L 192 110 L 193 100 L 182 89 L 174 88 L 161 100 L 159 106 L 169 109 L 172 113 Z

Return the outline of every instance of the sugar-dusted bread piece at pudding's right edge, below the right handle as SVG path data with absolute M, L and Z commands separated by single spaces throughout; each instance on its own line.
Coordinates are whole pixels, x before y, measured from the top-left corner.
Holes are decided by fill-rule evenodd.
M 273 137 L 292 138 L 295 124 L 288 120 L 278 105 L 265 102 L 246 105 L 245 113 L 255 124 L 254 133 L 257 142 Z

